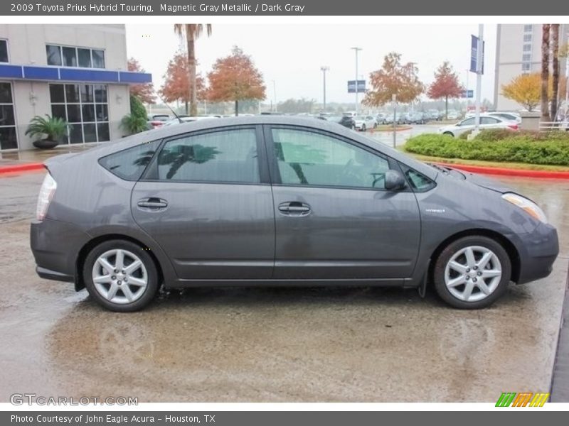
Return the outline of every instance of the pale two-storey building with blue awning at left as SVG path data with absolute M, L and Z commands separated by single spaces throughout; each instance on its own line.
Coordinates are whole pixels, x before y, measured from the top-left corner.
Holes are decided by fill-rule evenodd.
M 124 25 L 0 24 L 0 151 L 32 149 L 34 116 L 68 123 L 61 143 L 123 136 L 129 85 L 151 75 L 127 71 Z

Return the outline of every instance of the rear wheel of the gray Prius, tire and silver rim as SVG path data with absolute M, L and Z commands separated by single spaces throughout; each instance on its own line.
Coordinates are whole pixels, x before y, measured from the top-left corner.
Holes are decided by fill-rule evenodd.
M 117 256 L 122 256 L 122 261 Z M 117 261 L 122 268 L 117 268 Z M 103 266 L 105 262 L 107 268 Z M 129 267 L 134 269 L 129 271 Z M 141 310 L 154 299 L 159 288 L 158 271 L 149 253 L 120 239 L 105 241 L 90 251 L 83 263 L 83 280 L 91 297 L 115 312 Z

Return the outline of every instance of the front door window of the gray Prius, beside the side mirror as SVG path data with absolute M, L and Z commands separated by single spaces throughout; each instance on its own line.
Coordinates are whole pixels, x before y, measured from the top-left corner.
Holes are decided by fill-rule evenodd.
M 322 133 L 272 129 L 284 185 L 385 188 L 387 158 Z

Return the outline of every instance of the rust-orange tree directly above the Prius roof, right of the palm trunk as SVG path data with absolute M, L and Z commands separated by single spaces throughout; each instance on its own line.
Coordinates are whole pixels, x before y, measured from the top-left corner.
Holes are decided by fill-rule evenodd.
M 239 115 L 239 101 L 265 99 L 265 84 L 250 56 L 233 46 L 231 55 L 216 60 L 208 73 L 208 99 L 211 102 L 235 102 Z

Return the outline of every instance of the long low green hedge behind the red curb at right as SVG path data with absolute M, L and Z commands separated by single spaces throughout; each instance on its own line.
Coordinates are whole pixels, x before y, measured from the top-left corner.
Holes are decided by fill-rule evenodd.
M 569 165 L 569 137 L 555 135 L 550 139 L 536 140 L 542 137 L 546 136 L 510 133 L 509 138 L 499 141 L 488 141 L 479 137 L 464 141 L 452 136 L 423 134 L 408 139 L 405 151 L 464 160 Z

